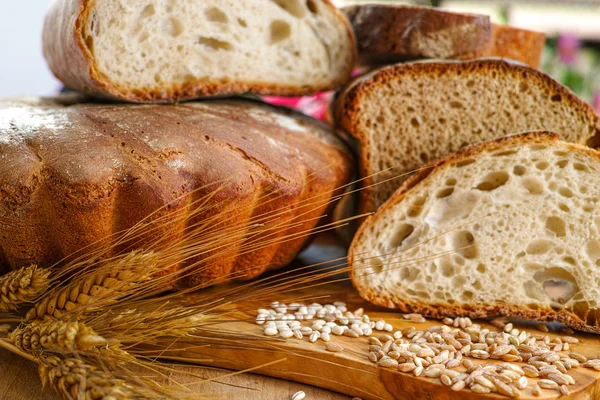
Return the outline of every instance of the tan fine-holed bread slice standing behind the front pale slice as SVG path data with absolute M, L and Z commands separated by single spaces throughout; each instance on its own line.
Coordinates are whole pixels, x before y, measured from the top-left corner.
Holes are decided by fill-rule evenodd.
M 336 123 L 360 142 L 360 212 L 375 210 L 398 188 L 402 178 L 391 178 L 469 144 L 536 130 L 600 144 L 591 106 L 548 75 L 492 59 L 372 72 L 338 97 Z

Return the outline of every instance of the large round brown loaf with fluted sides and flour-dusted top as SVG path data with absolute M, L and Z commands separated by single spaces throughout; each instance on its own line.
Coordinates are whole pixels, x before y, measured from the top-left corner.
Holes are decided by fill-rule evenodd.
M 0 266 L 47 267 L 110 246 L 155 212 L 161 223 L 136 246 L 178 243 L 192 225 L 213 247 L 230 246 L 210 262 L 188 260 L 194 285 L 289 263 L 352 165 L 331 128 L 258 102 L 65 97 L 0 101 L 0 160 Z M 265 226 L 274 229 L 252 236 Z M 244 237 L 262 245 L 252 250 Z

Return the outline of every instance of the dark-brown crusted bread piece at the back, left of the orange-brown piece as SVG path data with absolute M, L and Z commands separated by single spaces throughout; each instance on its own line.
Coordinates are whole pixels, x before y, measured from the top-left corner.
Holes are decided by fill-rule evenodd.
M 415 58 L 454 58 L 482 49 L 490 18 L 430 7 L 363 4 L 342 8 L 365 63 Z

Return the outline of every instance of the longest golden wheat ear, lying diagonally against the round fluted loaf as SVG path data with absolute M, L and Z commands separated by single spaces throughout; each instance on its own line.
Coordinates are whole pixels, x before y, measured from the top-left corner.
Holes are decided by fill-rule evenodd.
M 58 287 L 36 303 L 25 316 L 32 321 L 45 316 L 64 318 L 82 310 L 92 312 L 136 293 L 140 283 L 161 272 L 153 252 L 131 252 L 106 261 L 95 271 L 85 270 L 67 285 Z

